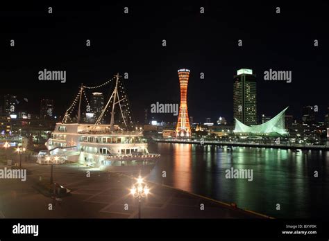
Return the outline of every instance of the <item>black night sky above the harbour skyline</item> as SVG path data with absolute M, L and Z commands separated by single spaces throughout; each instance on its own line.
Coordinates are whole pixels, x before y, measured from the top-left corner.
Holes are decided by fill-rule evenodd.
M 143 121 L 144 109 L 152 103 L 179 102 L 177 70 L 187 68 L 189 116 L 198 122 L 219 116 L 233 120 L 233 75 L 247 68 L 258 76 L 258 114 L 274 116 L 289 106 L 287 114 L 299 118 L 303 105 L 318 105 L 323 120 L 328 107 L 328 6 L 326 1 L 1 3 L 0 105 L 4 94 L 17 94 L 19 109 L 39 114 L 40 99 L 51 98 L 61 116 L 81 82 L 94 86 L 128 72 L 124 82 L 133 115 Z M 237 45 L 239 39 L 243 46 Z M 319 46 L 314 47 L 314 39 Z M 67 71 L 67 82 L 38 80 L 44 69 Z M 265 81 L 269 69 L 292 71 L 292 83 Z M 110 90 L 97 91 L 108 95 Z M 172 114 L 153 116 L 176 120 Z

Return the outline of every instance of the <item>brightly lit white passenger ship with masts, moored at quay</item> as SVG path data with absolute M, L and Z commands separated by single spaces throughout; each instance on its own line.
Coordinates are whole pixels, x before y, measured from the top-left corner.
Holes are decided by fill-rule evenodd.
M 119 75 L 116 76 L 115 91 L 111 96 L 115 104 L 121 101 L 117 93 Z M 48 150 L 40 152 L 37 163 L 74 161 L 117 172 L 150 171 L 160 154 L 149 153 L 142 130 L 135 128 L 133 131 L 128 131 L 114 125 L 115 104 L 112 105 L 110 125 L 99 124 L 102 116 L 95 124 L 57 123 L 51 138 L 46 143 Z M 79 112 L 80 104 L 78 119 Z M 56 161 L 53 157 L 57 157 Z

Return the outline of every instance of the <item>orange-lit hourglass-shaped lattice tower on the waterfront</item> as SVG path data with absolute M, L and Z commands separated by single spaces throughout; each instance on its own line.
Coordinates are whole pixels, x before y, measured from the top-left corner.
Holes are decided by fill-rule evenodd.
M 191 136 L 189 114 L 187 113 L 187 84 L 189 82 L 189 70 L 179 69 L 178 78 L 180 84 L 180 107 L 176 126 L 176 137 L 189 137 Z

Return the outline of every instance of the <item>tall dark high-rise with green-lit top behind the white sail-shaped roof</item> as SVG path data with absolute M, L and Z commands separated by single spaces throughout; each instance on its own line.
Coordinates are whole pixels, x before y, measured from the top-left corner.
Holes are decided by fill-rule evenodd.
M 257 125 L 256 75 L 251 69 L 239 69 L 233 77 L 233 117 Z

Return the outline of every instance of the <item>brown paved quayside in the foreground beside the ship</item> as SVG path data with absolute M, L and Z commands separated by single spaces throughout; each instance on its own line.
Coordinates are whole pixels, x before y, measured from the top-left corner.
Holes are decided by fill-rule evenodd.
M 0 166 L 3 169 L 5 166 Z M 54 181 L 71 195 L 54 201 L 33 185 L 49 180 L 50 166 L 23 163 L 31 174 L 26 181 L 0 179 L 0 218 L 137 218 L 138 202 L 129 194 L 132 179 L 76 164 L 54 166 Z M 90 177 L 87 177 L 90 171 Z M 260 217 L 160 184 L 150 184 L 151 194 L 142 201 L 142 218 L 253 218 Z M 53 204 L 53 210 L 49 210 Z M 127 205 L 128 204 L 128 210 Z M 204 210 L 200 205 L 204 204 Z M 125 209 L 126 207 L 126 209 Z

